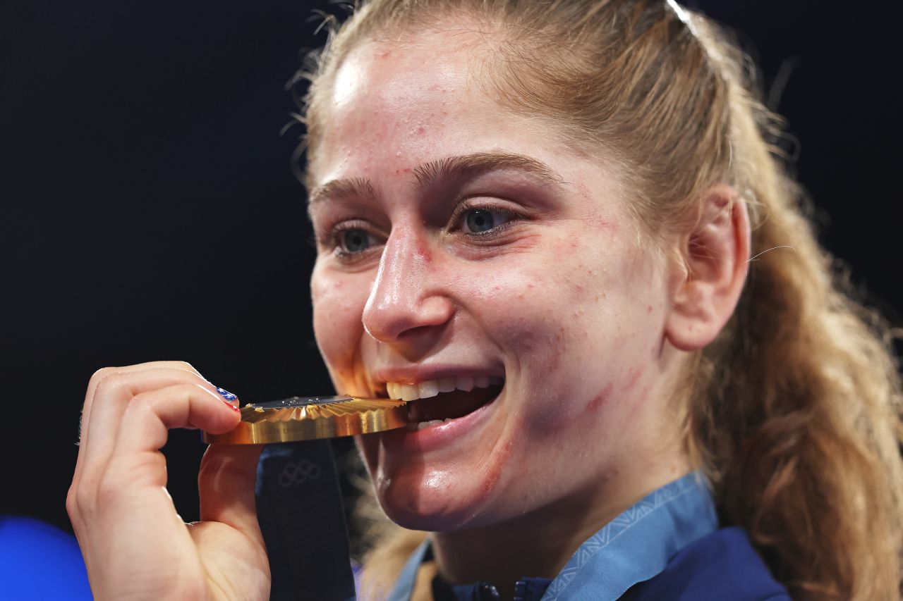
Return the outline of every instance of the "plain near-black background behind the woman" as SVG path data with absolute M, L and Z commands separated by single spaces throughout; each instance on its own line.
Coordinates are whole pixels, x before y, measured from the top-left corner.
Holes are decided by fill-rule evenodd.
M 903 325 L 893 4 L 689 3 L 759 60 L 801 142 L 824 244 Z M 184 359 L 245 401 L 331 392 L 290 164 L 301 130 L 280 135 L 299 51 L 325 39 L 312 8 L 341 13 L 287 0 L 0 7 L 0 513 L 70 528 L 79 409 L 99 367 Z M 202 451 L 190 431 L 165 448 L 186 520 Z

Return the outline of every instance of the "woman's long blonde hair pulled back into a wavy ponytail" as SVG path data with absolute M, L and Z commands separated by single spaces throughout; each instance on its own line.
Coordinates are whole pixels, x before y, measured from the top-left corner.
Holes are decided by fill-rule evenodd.
M 323 90 L 348 52 L 447 16 L 504 42 L 485 80 L 499 102 L 628 165 L 650 236 L 692 227 L 712 185 L 738 190 L 754 259 L 737 310 L 675 394 L 687 450 L 724 521 L 749 532 L 794 596 L 898 599 L 903 425 L 889 328 L 817 244 L 746 57 L 671 0 L 372 0 L 313 65 L 301 117 L 313 153 Z M 369 581 L 394 579 L 418 536 L 376 550 Z

